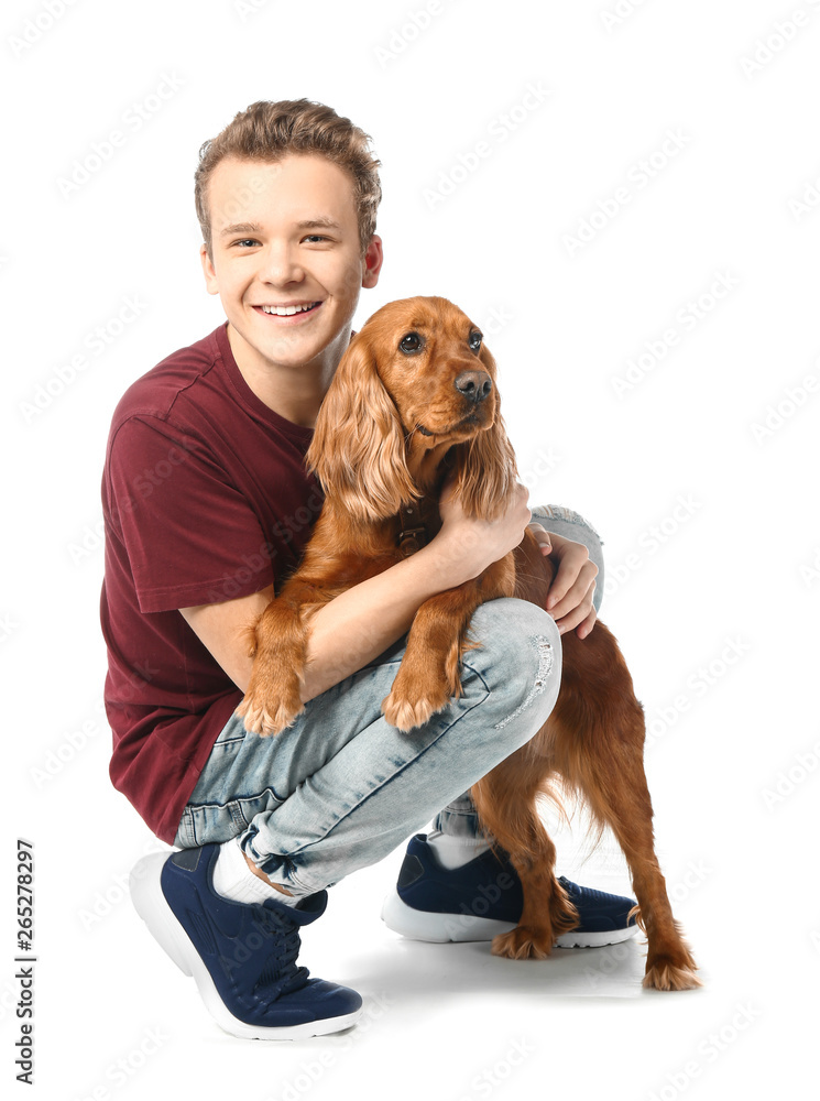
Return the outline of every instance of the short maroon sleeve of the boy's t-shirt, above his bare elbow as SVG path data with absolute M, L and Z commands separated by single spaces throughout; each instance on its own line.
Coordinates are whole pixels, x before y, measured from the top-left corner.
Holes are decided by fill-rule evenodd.
M 273 581 L 251 503 L 207 443 L 165 418 L 132 416 L 112 435 L 103 506 L 142 612 L 219 603 Z

